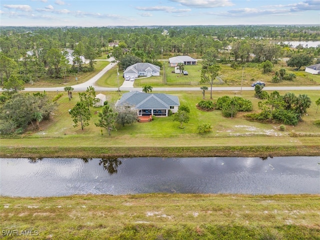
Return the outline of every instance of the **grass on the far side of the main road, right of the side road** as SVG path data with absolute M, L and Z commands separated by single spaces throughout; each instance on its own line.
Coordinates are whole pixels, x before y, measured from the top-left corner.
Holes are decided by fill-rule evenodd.
M 172 73 L 171 71 L 174 70 L 174 67 L 167 66 L 167 62 L 164 61 L 165 64 L 165 74 L 166 74 L 166 82 L 167 84 L 163 83 L 163 67 L 160 71 L 160 76 L 151 76 L 151 77 L 144 77 L 144 78 L 137 78 L 134 81 L 135 87 L 142 87 L 144 85 L 151 85 L 153 87 L 160 87 L 160 86 L 192 86 L 192 85 L 207 85 L 208 84 L 200 84 L 199 81 L 201 80 L 201 61 L 197 63 L 197 65 L 185 65 L 184 70 L 188 71 L 188 75 L 183 75 L 182 73 Z M 220 64 L 221 71 L 220 77 L 224 81 L 223 84 L 217 84 L 218 81 L 214 82 L 214 86 L 232 86 L 232 85 L 241 85 L 242 80 L 242 68 L 238 67 L 236 69 L 231 68 L 230 65 L 227 64 Z M 278 71 L 280 68 L 285 68 L 286 73 L 294 73 L 296 78 L 293 81 L 282 81 L 279 83 L 272 83 L 272 76 L 274 75 L 275 71 Z M 123 82 L 122 77 L 123 71 L 119 71 L 119 81 L 118 84 L 121 85 Z M 99 86 L 106 86 L 106 87 L 116 87 L 117 84 L 117 77 L 116 77 L 116 66 L 112 68 L 109 72 L 106 72 L 104 76 L 99 79 L 97 84 Z M 243 86 L 250 86 L 254 81 L 264 81 L 267 86 L 284 86 L 284 85 L 319 85 L 320 84 L 320 75 L 313 75 L 310 73 L 306 73 L 304 70 L 300 71 L 293 71 L 293 68 L 287 67 L 284 61 L 279 61 L 278 64 L 275 64 L 273 67 L 273 72 L 268 74 L 262 74 L 262 70 L 258 67 L 245 67 L 243 70 Z

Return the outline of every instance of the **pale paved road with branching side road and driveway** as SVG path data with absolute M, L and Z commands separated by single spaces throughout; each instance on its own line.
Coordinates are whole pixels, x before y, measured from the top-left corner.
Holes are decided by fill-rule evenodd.
M 113 58 L 109 58 L 108 61 L 112 61 Z M 99 73 L 87 80 L 86 82 L 72 85 L 73 91 L 85 91 L 88 86 L 93 86 L 96 91 L 117 91 L 117 87 L 103 87 L 96 86 L 95 82 L 109 69 L 111 69 L 116 63 L 110 63 L 104 67 Z M 119 76 L 122 77 L 122 76 Z M 64 91 L 63 86 L 59 87 L 28 87 L 24 91 Z M 133 81 L 124 81 L 119 87 L 121 91 L 141 91 L 142 87 L 133 87 Z M 209 88 L 210 89 L 210 88 Z M 264 90 L 320 90 L 320 86 L 265 86 Z M 2 90 L 2 89 L 1 89 Z M 153 91 L 200 91 L 200 87 L 153 87 Z M 241 91 L 240 86 L 215 86 L 212 87 L 214 91 Z M 242 87 L 243 91 L 254 90 L 254 87 L 245 86 Z

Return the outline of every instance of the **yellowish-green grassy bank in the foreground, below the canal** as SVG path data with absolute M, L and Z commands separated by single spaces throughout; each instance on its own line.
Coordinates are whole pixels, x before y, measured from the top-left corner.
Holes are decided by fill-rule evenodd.
M 319 200 L 162 193 L 1 197 L 0 226 L 2 232 L 37 231 L 23 239 L 318 239 Z

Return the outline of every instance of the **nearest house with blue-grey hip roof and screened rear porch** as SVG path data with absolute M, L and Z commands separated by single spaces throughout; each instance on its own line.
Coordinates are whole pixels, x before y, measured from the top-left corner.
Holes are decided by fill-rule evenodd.
M 177 112 L 179 105 L 180 102 L 177 96 L 141 91 L 126 92 L 115 103 L 115 106 L 135 109 L 137 116 L 167 116 L 169 110 L 172 113 Z

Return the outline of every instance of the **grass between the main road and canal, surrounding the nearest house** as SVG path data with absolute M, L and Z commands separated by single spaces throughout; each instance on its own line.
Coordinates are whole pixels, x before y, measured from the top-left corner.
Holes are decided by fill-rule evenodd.
M 51 119 L 48 121 L 40 122 L 40 130 L 34 131 L 29 129 L 22 136 L 18 138 L 5 138 L 0 139 L 1 143 L 1 155 L 11 154 L 12 151 L 17 147 L 46 147 L 51 149 L 51 153 L 42 153 L 44 155 L 52 155 L 56 147 L 78 147 L 74 151 L 69 153 L 63 152 L 63 155 L 74 154 L 94 154 L 100 153 L 110 153 L 110 154 L 120 154 L 116 147 L 126 147 L 122 149 L 121 152 L 124 155 L 140 154 L 144 155 L 157 155 L 161 152 L 161 147 L 190 147 L 190 149 L 183 149 L 187 151 L 187 155 L 195 154 L 206 154 L 206 155 L 223 155 L 223 148 L 230 146 L 229 155 L 236 155 L 234 152 L 234 147 L 244 147 L 244 151 L 247 150 L 247 154 L 243 151 L 239 152 L 238 155 L 256 155 L 259 152 L 254 152 L 256 149 L 254 147 L 261 147 L 261 155 L 273 154 L 273 155 L 286 155 L 293 154 L 289 151 L 293 150 L 290 147 L 302 147 L 302 146 L 317 146 L 314 148 L 315 154 L 318 154 L 318 146 L 320 146 L 320 129 L 313 124 L 314 120 L 319 119 L 319 112 L 316 113 L 316 105 L 314 101 L 319 97 L 317 91 L 292 91 L 296 95 L 305 93 L 310 96 L 312 100 L 311 107 L 307 111 L 307 115 L 303 116 L 303 121 L 299 122 L 296 126 L 286 125 L 285 131 L 279 130 L 280 124 L 266 124 L 259 122 L 247 121 L 243 118 L 244 113 L 238 113 L 236 117 L 225 118 L 222 116 L 220 110 L 215 110 L 212 112 L 200 111 L 196 108 L 196 103 L 202 99 L 201 91 L 176 91 L 167 92 L 168 94 L 177 95 L 180 100 L 180 104 L 185 104 L 190 108 L 190 121 L 188 123 L 183 123 L 184 129 L 178 128 L 179 122 L 173 122 L 171 117 L 157 117 L 155 120 L 150 122 L 139 123 L 135 122 L 130 125 L 117 126 L 117 131 L 112 131 L 111 136 L 108 136 L 105 129 L 103 129 L 103 135 L 100 133 L 100 128 L 94 125 L 97 122 L 98 116 L 95 114 L 96 111 L 101 110 L 101 107 L 91 107 L 90 111 L 92 113 L 92 118 L 89 121 L 89 126 L 84 127 L 81 130 L 80 126 L 73 127 L 73 121 L 68 113 L 76 101 L 78 100 L 78 94 L 74 93 L 71 101 L 68 100 L 67 94 L 63 93 L 63 96 L 58 99 L 59 107 L 52 115 Z M 107 101 L 110 103 L 115 103 L 117 99 L 121 97 L 121 93 L 117 92 L 102 92 L 106 94 Z M 219 96 L 229 95 L 235 96 L 238 92 L 224 92 L 224 91 L 214 91 L 213 101 L 215 101 Z M 280 92 L 284 94 L 284 92 Z M 56 94 L 50 92 L 48 94 Z M 206 92 L 208 99 L 209 91 Z M 252 91 L 243 91 L 243 97 L 250 99 L 253 102 L 253 110 L 257 111 L 258 99 L 253 97 Z M 213 130 L 207 134 L 200 134 L 197 132 L 197 126 L 201 123 L 210 123 Z M 292 133 L 296 136 L 292 137 Z M 75 142 L 80 142 L 80 144 L 74 144 Z M 150 150 L 145 148 L 145 144 Z M 10 148 L 10 146 L 15 148 Z M 274 152 L 268 147 L 273 146 Z M 287 149 L 285 147 L 287 147 Z M 7 147 L 6 150 L 3 147 Z M 115 147 L 106 150 L 103 149 L 93 149 L 92 151 L 86 149 L 85 147 Z M 135 147 L 135 152 L 130 147 Z M 151 150 L 151 147 L 158 147 L 159 149 Z M 193 148 L 192 148 L 193 147 Z M 207 149 L 203 148 L 204 151 L 201 153 L 200 148 L 195 149 L 194 147 L 209 147 Z M 215 147 L 215 148 L 214 148 Z M 253 148 L 252 148 L 253 147 Z M 83 149 L 81 149 L 83 148 Z M 145 148 L 141 150 L 141 148 Z M 172 149 L 173 149 L 172 148 Z M 43 150 L 42 149 L 42 150 Z M 42 152 L 40 150 L 40 153 Z M 243 149 L 242 149 L 243 150 Z M 10 153 L 11 151 L 11 153 Z M 23 150 L 26 152 L 27 150 Z M 50 149 L 47 149 L 49 152 Z M 86 152 L 87 151 L 87 152 Z M 97 152 L 95 152 L 97 151 Z M 169 153 L 170 149 L 166 149 L 167 155 L 179 155 L 179 150 L 174 150 Z M 282 151 L 282 153 L 281 153 Z M 314 154 L 312 149 L 301 150 L 300 153 L 297 149 L 294 150 L 294 154 Z M 308 153 L 310 151 L 310 153 Z M 18 152 L 18 150 L 17 150 Z M 16 152 L 16 153 L 17 153 Z M 317 153 L 316 153 L 317 152 Z M 38 153 L 38 154 L 40 154 Z M 162 149 L 163 153 L 163 149 Z M 57 152 L 56 154 L 59 154 Z M 56 155 L 53 154 L 53 155 Z M 225 153 L 226 154 L 226 153 Z M 183 154 L 182 154 L 183 155 Z

